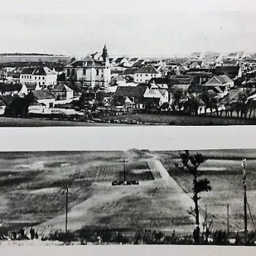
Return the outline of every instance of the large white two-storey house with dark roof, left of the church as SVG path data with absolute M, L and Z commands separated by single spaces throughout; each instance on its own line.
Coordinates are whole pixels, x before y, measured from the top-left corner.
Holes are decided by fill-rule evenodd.
M 20 83 L 37 83 L 41 88 L 54 86 L 58 73 L 48 67 L 25 67 L 20 74 Z

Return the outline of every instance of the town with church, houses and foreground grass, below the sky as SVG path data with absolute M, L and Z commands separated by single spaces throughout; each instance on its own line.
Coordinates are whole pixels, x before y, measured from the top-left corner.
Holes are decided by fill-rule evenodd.
M 1 53 L 1 126 L 256 124 L 255 70 L 256 53 L 244 51 Z

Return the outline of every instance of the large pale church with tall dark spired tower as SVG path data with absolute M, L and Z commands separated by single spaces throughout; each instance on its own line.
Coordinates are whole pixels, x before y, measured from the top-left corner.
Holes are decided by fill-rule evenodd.
M 82 86 L 94 88 L 109 87 L 111 72 L 106 45 L 102 55 L 94 59 L 95 54 L 86 56 L 84 59 L 76 59 L 65 67 L 66 80 L 80 82 Z

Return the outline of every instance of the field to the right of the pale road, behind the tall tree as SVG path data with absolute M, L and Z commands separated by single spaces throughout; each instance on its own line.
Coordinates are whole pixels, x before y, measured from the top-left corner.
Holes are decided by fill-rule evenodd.
M 190 153 L 193 153 L 191 151 Z M 195 153 L 195 152 L 194 152 Z M 247 197 L 252 215 L 256 217 L 256 150 L 211 150 L 200 151 L 208 160 L 200 166 L 202 178 L 211 181 L 211 192 L 201 193 L 200 209 L 204 214 L 206 206 L 208 219 L 213 219 L 215 229 L 227 229 L 227 204 L 230 208 L 230 231 L 236 232 L 244 228 L 243 181 L 241 160 L 246 157 Z M 162 152 L 162 162 L 178 184 L 192 195 L 192 176 L 177 170 L 178 152 Z M 249 217 L 249 229 L 254 230 Z M 201 219 L 203 221 L 203 219 Z

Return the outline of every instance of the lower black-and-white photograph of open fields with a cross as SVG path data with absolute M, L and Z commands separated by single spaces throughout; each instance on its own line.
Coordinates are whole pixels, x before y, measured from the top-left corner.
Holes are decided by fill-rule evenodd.
M 256 241 L 256 149 L 0 153 L 0 244 Z

